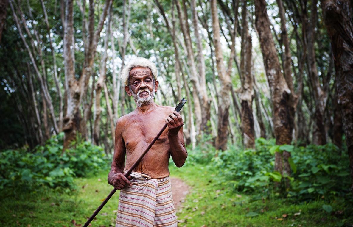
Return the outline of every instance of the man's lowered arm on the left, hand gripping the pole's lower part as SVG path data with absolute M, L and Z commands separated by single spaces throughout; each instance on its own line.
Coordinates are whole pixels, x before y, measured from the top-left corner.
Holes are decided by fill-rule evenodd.
M 129 179 L 132 177 L 125 177 L 124 176 L 124 162 L 125 162 L 125 154 L 126 154 L 126 147 L 124 144 L 124 139 L 122 139 L 122 119 L 119 118 L 116 122 L 115 126 L 115 145 L 114 145 L 114 155 L 112 166 L 110 167 L 110 172 L 108 174 L 108 183 L 113 185 L 114 188 L 120 190 L 125 188 L 126 184 L 131 186 Z

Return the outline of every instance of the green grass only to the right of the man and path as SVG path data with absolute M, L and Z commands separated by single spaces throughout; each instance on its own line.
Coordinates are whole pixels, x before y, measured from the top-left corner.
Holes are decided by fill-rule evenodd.
M 288 200 L 253 200 L 229 191 L 227 184 L 207 167 L 172 168 L 174 176 L 192 186 L 191 194 L 177 213 L 180 226 L 343 226 L 353 223 L 352 203 L 337 199 L 323 210 L 323 200 L 292 204 Z

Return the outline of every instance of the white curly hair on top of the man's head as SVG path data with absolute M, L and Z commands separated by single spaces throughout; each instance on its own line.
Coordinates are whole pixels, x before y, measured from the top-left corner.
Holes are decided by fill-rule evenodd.
M 130 71 L 135 67 L 149 68 L 152 72 L 153 79 L 155 81 L 157 80 L 158 70 L 155 63 L 151 62 L 149 59 L 145 59 L 144 57 L 136 57 L 131 59 L 121 71 L 120 78 L 122 82 L 124 82 L 125 86 L 128 86 L 127 82 L 129 79 Z

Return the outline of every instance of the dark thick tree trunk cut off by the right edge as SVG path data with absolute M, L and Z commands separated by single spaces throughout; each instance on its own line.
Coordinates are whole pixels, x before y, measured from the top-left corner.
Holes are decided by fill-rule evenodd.
M 349 0 L 322 1 L 324 21 L 335 60 L 337 102 L 341 107 L 343 129 L 353 179 L 353 20 Z M 352 188 L 353 190 L 353 185 Z

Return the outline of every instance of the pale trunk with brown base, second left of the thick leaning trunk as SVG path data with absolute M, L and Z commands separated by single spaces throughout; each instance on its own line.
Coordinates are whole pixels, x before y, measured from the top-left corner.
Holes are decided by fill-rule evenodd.
M 213 28 L 213 41 L 215 45 L 216 66 L 217 66 L 218 77 L 221 82 L 221 91 L 220 91 L 219 104 L 218 104 L 218 127 L 217 127 L 217 137 L 215 140 L 215 147 L 216 149 L 221 149 L 224 151 L 227 149 L 228 116 L 229 116 L 229 105 L 230 105 L 229 92 L 231 92 L 232 80 L 230 77 L 230 70 L 228 70 L 227 72 L 226 67 L 223 63 L 223 54 L 222 54 L 222 47 L 220 42 L 220 39 L 221 39 L 220 25 L 219 25 L 219 17 L 217 14 L 216 0 L 211 0 L 211 15 L 212 15 L 212 28 Z M 234 41 L 232 45 L 234 46 Z M 232 61 L 232 58 L 233 56 L 229 58 L 230 62 Z M 228 64 L 228 66 L 229 65 L 231 64 Z

